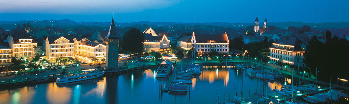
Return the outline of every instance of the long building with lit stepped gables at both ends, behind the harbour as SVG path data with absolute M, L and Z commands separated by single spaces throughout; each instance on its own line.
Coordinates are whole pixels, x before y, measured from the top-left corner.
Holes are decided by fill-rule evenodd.
M 225 34 L 198 34 L 192 35 L 192 48 L 198 53 L 227 53 L 229 51 L 229 39 Z

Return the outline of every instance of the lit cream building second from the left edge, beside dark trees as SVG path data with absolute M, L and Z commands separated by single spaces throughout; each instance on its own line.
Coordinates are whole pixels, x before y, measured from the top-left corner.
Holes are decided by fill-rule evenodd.
M 22 35 L 7 37 L 8 45 L 12 48 L 12 57 L 24 57 L 31 59 L 36 56 L 38 43 L 30 36 Z

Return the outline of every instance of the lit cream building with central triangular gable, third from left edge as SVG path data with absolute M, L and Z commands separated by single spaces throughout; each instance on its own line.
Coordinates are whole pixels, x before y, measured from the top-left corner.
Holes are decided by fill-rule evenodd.
M 74 57 L 74 42 L 65 37 L 46 38 L 46 57 L 55 59 L 59 57 Z

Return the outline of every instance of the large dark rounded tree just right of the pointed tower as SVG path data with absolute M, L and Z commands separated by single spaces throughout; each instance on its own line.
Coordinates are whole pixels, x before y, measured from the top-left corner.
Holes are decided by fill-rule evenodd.
M 144 35 L 139 29 L 131 28 L 127 30 L 122 38 L 123 40 L 120 46 L 124 51 L 135 53 L 141 53 L 143 51 Z

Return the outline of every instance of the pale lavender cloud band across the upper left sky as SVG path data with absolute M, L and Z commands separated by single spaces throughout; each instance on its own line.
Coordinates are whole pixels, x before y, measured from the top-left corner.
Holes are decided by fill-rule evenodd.
M 105 14 L 162 9 L 180 0 L 0 0 L 0 13 Z

